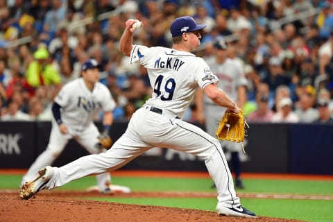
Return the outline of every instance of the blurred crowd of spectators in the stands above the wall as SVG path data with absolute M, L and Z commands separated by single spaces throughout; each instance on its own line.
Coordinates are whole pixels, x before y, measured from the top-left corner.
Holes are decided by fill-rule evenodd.
M 169 25 L 183 15 L 207 25 L 197 56 L 211 59 L 223 37 L 244 68 L 248 121 L 333 122 L 332 0 L 0 0 L 0 120 L 50 120 L 87 58 L 101 65 L 114 119 L 129 119 L 152 89 L 118 50 L 126 19 L 143 22 L 135 44 L 171 47 Z M 196 104 L 184 118 L 196 121 Z

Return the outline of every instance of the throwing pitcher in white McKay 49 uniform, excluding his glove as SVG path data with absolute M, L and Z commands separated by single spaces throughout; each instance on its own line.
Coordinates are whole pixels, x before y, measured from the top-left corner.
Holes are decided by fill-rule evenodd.
M 217 78 L 202 58 L 191 51 L 198 48 L 205 25 L 197 25 L 192 17 L 179 17 L 170 26 L 173 49 L 133 46 L 134 19 L 128 19 L 121 36 L 120 50 L 148 71 L 153 87 L 152 98 L 137 110 L 126 132 L 105 153 L 80 157 L 63 167 L 45 167 L 35 180 L 23 186 L 21 198 L 30 198 L 40 189 L 60 187 L 91 173 L 114 171 L 153 147 L 173 148 L 192 153 L 205 160 L 216 183 L 216 211 L 223 215 L 255 217 L 241 206 L 232 176 L 219 141 L 197 126 L 182 121 L 197 87 L 216 103 L 239 112 L 239 108 L 223 90 L 216 87 Z

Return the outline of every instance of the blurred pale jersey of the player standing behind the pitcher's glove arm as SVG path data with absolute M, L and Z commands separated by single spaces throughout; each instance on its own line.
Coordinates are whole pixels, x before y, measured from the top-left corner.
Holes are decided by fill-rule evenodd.
M 207 64 L 217 78 L 219 78 L 219 88 L 223 89 L 232 101 L 237 101 L 238 87 L 247 84 L 243 68 L 230 58 L 227 58 L 221 64 L 216 63 L 216 60 L 210 60 Z M 212 101 L 205 96 L 205 103 L 212 103 Z

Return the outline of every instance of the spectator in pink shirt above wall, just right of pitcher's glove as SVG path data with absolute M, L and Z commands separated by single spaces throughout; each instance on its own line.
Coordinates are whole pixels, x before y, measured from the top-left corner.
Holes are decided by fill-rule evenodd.
M 257 110 L 251 112 L 246 118 L 248 122 L 271 122 L 274 112 L 268 105 L 268 94 L 257 95 Z

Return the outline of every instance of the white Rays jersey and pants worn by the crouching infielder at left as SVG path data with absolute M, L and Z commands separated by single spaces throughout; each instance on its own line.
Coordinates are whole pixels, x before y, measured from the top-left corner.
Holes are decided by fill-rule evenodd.
M 112 111 L 115 102 L 110 91 L 102 83 L 95 83 L 90 91 L 83 78 L 72 80 L 62 87 L 55 99 L 62 108 L 60 109 L 62 122 L 69 131 L 68 134 L 60 133 L 58 123 L 53 118 L 49 144 L 22 178 L 22 184 L 31 180 L 35 172 L 51 165 L 58 155 L 62 153 L 69 139 L 75 137 L 76 141 L 89 153 L 102 153 L 105 149 L 96 147 L 99 142 L 99 130 L 94 125 L 93 118 L 97 112 Z M 110 184 L 110 173 L 105 172 L 96 176 L 99 189 L 103 191 Z

